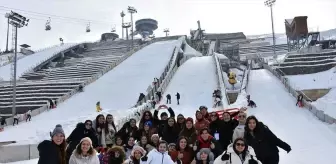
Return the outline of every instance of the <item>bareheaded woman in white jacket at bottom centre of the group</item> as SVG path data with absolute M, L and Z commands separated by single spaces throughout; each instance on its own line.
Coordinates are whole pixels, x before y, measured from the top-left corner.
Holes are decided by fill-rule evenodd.
M 141 158 L 141 164 L 174 164 L 168 154 L 168 145 L 166 141 L 160 141 L 159 147 L 153 149 L 147 156 Z

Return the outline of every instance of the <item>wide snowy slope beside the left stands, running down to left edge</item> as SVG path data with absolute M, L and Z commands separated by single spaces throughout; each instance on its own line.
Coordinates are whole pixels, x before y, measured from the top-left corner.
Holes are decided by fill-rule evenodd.
M 56 124 L 61 124 L 65 134 L 69 135 L 78 122 L 95 119 L 97 101 L 100 101 L 103 112 L 110 112 L 115 120 L 126 116 L 130 113 L 127 109 L 136 103 L 139 94 L 146 93 L 154 77 L 162 74 L 179 43 L 177 40 L 157 42 L 139 50 L 56 109 L 33 117 L 31 122 L 9 126 L 1 132 L 0 141 L 37 143 L 49 139 L 49 132 Z

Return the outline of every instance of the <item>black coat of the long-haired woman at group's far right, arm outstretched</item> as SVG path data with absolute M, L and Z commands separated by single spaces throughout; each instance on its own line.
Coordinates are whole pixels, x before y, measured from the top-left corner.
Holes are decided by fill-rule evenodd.
M 290 151 L 291 147 L 279 139 L 273 132 L 262 122 L 258 122 L 259 129 L 254 132 L 254 136 L 249 132 L 245 132 L 245 139 L 248 145 L 252 146 L 257 158 L 262 163 L 267 163 L 270 159 L 276 159 L 279 157 L 278 147 L 285 151 Z

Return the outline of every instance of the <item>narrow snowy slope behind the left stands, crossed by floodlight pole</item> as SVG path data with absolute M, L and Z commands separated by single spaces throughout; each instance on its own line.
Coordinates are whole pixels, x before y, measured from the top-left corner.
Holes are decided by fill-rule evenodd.
M 47 60 L 55 55 L 55 53 L 65 50 L 69 47 L 74 46 L 75 44 L 63 44 L 59 46 L 54 46 L 52 48 L 46 49 L 44 51 L 31 54 L 17 61 L 17 74 L 16 77 L 19 78 L 23 73 L 41 63 L 44 60 Z M 0 67 L 0 80 L 9 81 L 11 78 L 11 65 L 5 65 Z

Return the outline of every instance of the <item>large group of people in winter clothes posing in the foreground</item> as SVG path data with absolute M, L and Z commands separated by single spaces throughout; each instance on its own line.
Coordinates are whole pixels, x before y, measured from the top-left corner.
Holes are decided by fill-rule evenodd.
M 57 125 L 38 145 L 38 164 L 278 164 L 278 147 L 291 147 L 246 108 L 222 114 L 201 106 L 193 118 L 145 111 L 117 129 L 113 116 L 78 123 L 65 138 Z M 234 119 L 236 117 L 237 119 Z M 98 155 L 97 155 L 98 154 Z

